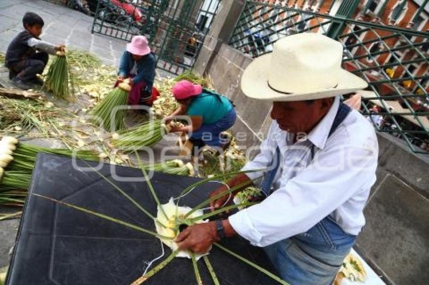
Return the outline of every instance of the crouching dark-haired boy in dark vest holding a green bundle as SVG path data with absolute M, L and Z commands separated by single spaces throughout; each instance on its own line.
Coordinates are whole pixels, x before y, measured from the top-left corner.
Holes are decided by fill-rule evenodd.
M 9 79 L 21 89 L 31 88 L 30 84 L 43 85 L 37 74 L 42 74 L 48 60 L 48 53 L 63 51 L 64 45 L 53 45 L 40 40 L 43 19 L 39 15 L 27 12 L 22 19 L 24 31 L 20 32 L 9 44 L 5 56 L 5 65 L 9 68 Z

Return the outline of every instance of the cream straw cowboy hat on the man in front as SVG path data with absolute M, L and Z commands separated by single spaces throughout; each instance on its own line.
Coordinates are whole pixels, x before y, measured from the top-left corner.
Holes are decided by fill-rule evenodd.
M 299 101 L 364 89 L 365 81 L 341 68 L 342 59 L 343 45 L 327 36 L 288 36 L 247 66 L 241 90 L 253 99 Z

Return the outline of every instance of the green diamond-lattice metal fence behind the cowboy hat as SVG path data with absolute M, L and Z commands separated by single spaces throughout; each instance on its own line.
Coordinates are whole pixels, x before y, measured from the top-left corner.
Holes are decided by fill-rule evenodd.
M 429 33 L 247 1 L 229 43 L 257 57 L 279 38 L 303 32 L 343 44 L 343 67 L 368 83 L 361 112 L 378 131 L 429 153 Z

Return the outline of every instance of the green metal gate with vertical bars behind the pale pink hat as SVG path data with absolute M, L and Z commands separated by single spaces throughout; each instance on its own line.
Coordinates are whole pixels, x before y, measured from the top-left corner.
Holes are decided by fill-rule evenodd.
M 191 69 L 220 0 L 99 0 L 92 33 L 124 41 L 145 35 L 158 68 Z

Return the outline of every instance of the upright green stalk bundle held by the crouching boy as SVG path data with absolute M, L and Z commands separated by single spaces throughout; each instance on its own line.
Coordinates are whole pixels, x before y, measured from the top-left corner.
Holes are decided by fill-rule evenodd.
M 44 87 L 57 98 L 69 102 L 76 101 L 73 77 L 65 52 L 57 52 L 57 56 L 49 65 Z

